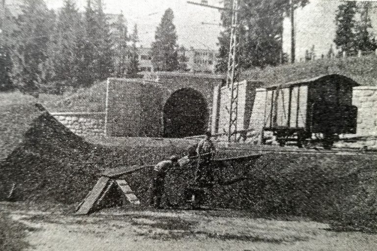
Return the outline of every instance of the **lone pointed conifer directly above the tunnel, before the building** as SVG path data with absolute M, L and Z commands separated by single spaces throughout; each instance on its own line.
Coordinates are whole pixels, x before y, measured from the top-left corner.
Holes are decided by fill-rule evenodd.
M 177 32 L 173 24 L 174 13 L 168 8 L 156 29 L 152 43 L 152 64 L 157 71 L 175 71 L 179 68 Z

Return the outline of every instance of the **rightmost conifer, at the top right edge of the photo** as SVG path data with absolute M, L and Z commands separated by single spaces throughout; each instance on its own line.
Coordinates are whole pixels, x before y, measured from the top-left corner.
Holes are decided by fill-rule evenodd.
M 355 41 L 356 49 L 361 51 L 371 51 L 377 49 L 376 39 L 370 34 L 372 22 L 370 17 L 371 2 L 362 2 L 358 6 L 360 21 L 356 24 Z

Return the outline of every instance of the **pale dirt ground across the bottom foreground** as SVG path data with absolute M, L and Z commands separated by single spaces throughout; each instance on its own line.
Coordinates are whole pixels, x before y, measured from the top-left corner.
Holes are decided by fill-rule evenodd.
M 262 219 L 229 209 L 131 210 L 90 216 L 1 202 L 0 210 L 27 226 L 33 251 L 375 251 L 377 235 L 334 232 L 305 219 Z M 33 209 L 34 208 L 34 209 Z M 59 207 L 56 207 L 59 208 Z

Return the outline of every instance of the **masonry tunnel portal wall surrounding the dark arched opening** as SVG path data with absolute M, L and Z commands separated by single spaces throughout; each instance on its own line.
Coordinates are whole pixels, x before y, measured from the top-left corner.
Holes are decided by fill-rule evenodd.
M 109 78 L 105 134 L 118 137 L 184 137 L 203 133 L 211 129 L 214 89 L 223 83 L 223 79 L 221 75 L 177 72 L 157 72 L 141 79 Z M 177 93 L 185 91 L 192 97 L 182 102 L 188 102 L 186 106 L 195 104 L 193 100 L 196 97 L 200 104 L 194 109 L 204 110 L 202 128 L 184 126 L 188 133 L 166 134 L 164 107 Z M 177 102 L 177 97 L 175 99 Z

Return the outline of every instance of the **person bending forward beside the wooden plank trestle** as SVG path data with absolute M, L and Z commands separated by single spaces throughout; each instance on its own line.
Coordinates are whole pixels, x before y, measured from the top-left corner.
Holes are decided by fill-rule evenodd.
M 170 156 L 169 160 L 163 160 L 158 163 L 152 173 L 152 183 L 150 185 L 150 200 L 149 204 L 155 208 L 161 207 L 161 199 L 163 195 L 163 189 L 165 185 L 165 176 L 168 170 L 174 170 L 178 167 L 177 155 Z

